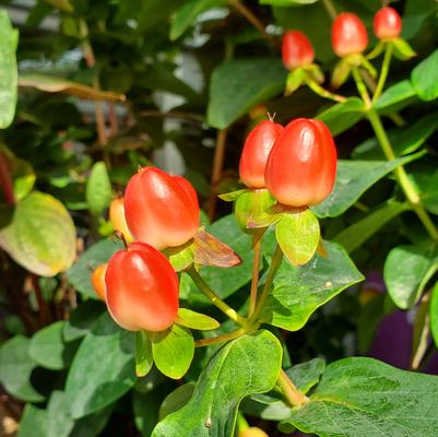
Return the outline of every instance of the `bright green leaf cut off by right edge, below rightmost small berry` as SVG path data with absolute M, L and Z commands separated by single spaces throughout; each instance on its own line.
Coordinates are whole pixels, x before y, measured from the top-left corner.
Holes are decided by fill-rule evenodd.
M 412 70 L 412 84 L 422 101 L 438 97 L 438 49 Z

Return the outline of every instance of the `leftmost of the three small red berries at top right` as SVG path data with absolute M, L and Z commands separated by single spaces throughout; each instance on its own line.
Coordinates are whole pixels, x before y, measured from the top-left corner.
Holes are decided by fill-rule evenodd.
M 288 70 L 313 62 L 315 50 L 309 38 L 300 31 L 288 31 L 283 36 L 282 58 Z

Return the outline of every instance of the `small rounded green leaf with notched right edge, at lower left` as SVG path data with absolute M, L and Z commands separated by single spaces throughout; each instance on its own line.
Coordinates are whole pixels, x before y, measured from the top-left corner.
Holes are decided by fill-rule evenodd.
M 66 321 L 57 321 L 37 331 L 31 340 L 29 354 L 40 366 L 60 370 L 69 366 L 75 347 L 62 338 Z

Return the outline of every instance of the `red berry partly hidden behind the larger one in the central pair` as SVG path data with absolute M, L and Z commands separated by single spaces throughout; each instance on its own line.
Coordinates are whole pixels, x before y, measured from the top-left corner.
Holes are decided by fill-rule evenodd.
M 264 120 L 257 125 L 247 137 L 240 156 L 240 179 L 247 187 L 263 188 L 268 156 L 283 126 Z

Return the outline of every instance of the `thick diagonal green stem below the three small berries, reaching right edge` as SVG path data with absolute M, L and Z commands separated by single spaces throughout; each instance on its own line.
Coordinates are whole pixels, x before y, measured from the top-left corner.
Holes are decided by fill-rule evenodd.
M 367 113 L 367 117 L 372 126 L 372 129 L 384 153 L 384 156 L 387 157 L 388 161 L 395 160 L 396 158 L 395 153 L 388 139 L 387 132 L 384 131 L 379 115 L 375 109 L 370 108 Z M 435 226 L 434 222 L 431 221 L 429 214 L 424 209 L 419 196 L 416 192 L 416 189 L 412 184 L 411 179 L 409 178 L 404 167 L 402 165 L 395 167 L 394 175 L 407 201 L 410 202 L 412 210 L 417 214 L 418 218 L 422 221 L 424 227 L 426 228 L 430 237 L 434 238 L 435 240 L 438 240 L 438 229 Z

